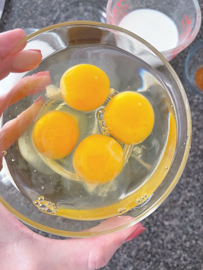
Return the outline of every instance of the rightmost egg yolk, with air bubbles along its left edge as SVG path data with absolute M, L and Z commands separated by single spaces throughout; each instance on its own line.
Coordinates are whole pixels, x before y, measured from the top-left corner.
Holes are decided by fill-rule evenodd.
M 109 101 L 105 108 L 104 119 L 107 130 L 114 138 L 125 144 L 138 144 L 151 133 L 154 112 L 146 97 L 126 91 Z

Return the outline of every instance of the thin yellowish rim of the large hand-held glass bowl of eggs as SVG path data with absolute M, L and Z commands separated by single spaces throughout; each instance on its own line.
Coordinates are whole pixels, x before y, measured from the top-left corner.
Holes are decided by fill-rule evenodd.
M 188 127 L 188 134 L 187 135 L 188 135 L 189 138 L 191 138 L 191 136 L 192 136 L 192 121 L 191 121 L 191 113 L 190 113 L 190 109 L 189 109 L 189 103 L 188 103 L 188 99 L 187 99 L 184 87 L 183 87 L 178 75 L 176 74 L 176 72 L 172 68 L 172 66 L 169 64 L 169 62 L 164 58 L 164 56 L 158 50 L 156 50 L 152 45 L 150 45 L 148 42 L 146 42 L 144 39 L 140 38 L 139 36 L 135 35 L 134 33 L 130 32 L 130 31 L 126 30 L 126 29 L 123 29 L 121 27 L 106 24 L 106 23 L 92 22 L 92 21 L 70 21 L 70 22 L 58 23 L 58 24 L 55 24 L 55 25 L 51 25 L 51 26 L 47 26 L 45 28 L 42 28 L 42 29 L 32 33 L 31 35 L 27 36 L 26 38 L 22 39 L 21 42 L 19 42 L 18 45 L 24 43 L 25 41 L 30 40 L 31 38 L 34 38 L 37 35 L 40 35 L 41 33 L 44 33 L 44 32 L 59 28 L 59 27 L 63 27 L 63 26 L 77 26 L 77 25 L 80 25 L 80 26 L 96 26 L 96 27 L 102 27 L 102 28 L 106 28 L 106 29 L 119 31 L 121 33 L 125 33 L 125 34 L 131 36 L 132 38 L 142 42 L 156 56 L 158 56 L 161 59 L 161 61 L 164 63 L 164 65 L 169 69 L 169 71 L 171 72 L 171 75 L 173 76 L 174 80 L 176 81 L 177 85 L 179 86 L 179 90 L 181 92 L 182 99 L 183 99 L 184 104 L 185 104 L 185 108 L 187 108 L 186 109 L 186 116 L 187 116 L 187 123 L 186 124 L 187 124 L 187 127 Z M 137 222 L 143 220 L 148 215 L 150 215 L 169 196 L 169 194 L 172 192 L 173 188 L 178 183 L 178 180 L 181 177 L 181 174 L 182 174 L 182 172 L 183 172 L 183 170 L 185 168 L 185 165 L 186 165 L 186 162 L 187 162 L 187 159 L 188 159 L 188 155 L 189 155 L 190 144 L 191 144 L 191 140 L 186 142 L 185 152 L 184 152 L 184 156 L 182 158 L 181 166 L 179 167 L 179 170 L 176 173 L 176 176 L 172 180 L 170 186 L 165 191 L 165 193 L 156 201 L 155 204 L 153 204 L 150 208 L 148 208 L 144 213 L 142 213 L 138 217 L 134 217 L 131 221 L 129 221 L 129 222 L 127 222 L 127 223 L 125 223 L 125 224 L 123 224 L 123 225 L 121 225 L 119 227 L 116 227 L 116 228 L 112 228 L 112 229 L 109 229 L 109 230 L 106 230 L 106 231 L 100 231 L 100 232 L 84 232 L 84 231 L 83 232 L 71 232 L 71 231 L 58 230 L 58 229 L 47 227 L 45 225 L 41 225 L 38 222 L 35 222 L 35 221 L 25 217 L 24 215 L 19 213 L 17 210 L 15 210 L 13 207 L 11 207 L 11 205 L 9 203 L 7 203 L 1 197 L 1 195 L 0 195 L 0 203 L 2 203 L 19 220 L 25 222 L 26 224 L 28 224 L 28 225 L 30 225 L 30 226 L 32 226 L 34 228 L 37 228 L 38 230 L 48 232 L 48 233 L 51 233 L 51 234 L 55 234 L 55 235 L 61 235 L 61 236 L 65 236 L 65 237 L 83 238 L 83 237 L 91 237 L 91 236 L 102 235 L 102 234 L 107 234 L 107 233 L 112 233 L 112 232 L 117 232 L 117 231 L 120 231 L 120 230 L 124 230 L 124 229 L 136 224 Z

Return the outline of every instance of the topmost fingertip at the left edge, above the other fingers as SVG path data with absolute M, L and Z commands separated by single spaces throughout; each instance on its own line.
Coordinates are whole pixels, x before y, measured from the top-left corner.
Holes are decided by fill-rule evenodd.
M 26 37 L 22 29 L 14 29 L 4 33 L 0 33 L 0 63 L 3 62 L 11 53 L 17 53 L 23 50 L 27 44 L 18 46 L 18 43 Z

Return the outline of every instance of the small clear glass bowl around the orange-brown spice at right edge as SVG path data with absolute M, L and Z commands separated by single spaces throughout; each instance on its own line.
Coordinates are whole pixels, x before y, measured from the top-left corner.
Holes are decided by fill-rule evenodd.
M 203 96 L 195 82 L 195 73 L 203 67 L 203 41 L 196 43 L 188 52 L 185 59 L 185 80 L 189 88 L 197 95 Z

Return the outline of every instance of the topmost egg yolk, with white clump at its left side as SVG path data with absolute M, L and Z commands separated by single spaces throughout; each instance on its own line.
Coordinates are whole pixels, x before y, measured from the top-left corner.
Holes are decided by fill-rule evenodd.
M 91 111 L 101 106 L 109 94 L 109 78 L 100 68 L 81 64 L 68 69 L 61 78 L 61 95 L 72 108 Z

